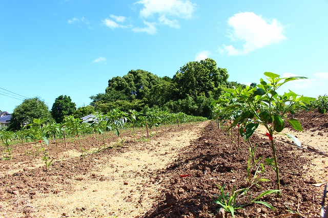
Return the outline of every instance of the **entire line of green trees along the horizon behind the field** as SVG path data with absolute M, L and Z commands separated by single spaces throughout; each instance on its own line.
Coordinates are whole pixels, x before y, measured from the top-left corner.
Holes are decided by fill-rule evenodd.
M 76 108 L 70 96 L 60 95 L 51 110 L 38 97 L 25 99 L 12 113 L 9 129 L 18 130 L 43 118 L 46 122 L 61 123 L 65 116 L 81 118 L 95 112 L 107 114 L 113 109 L 183 112 L 192 116 L 211 118 L 211 102 L 224 88 L 241 85 L 228 81 L 227 69 L 218 68 L 213 59 L 190 61 L 173 76 L 159 77 L 145 70 L 131 70 L 125 76 L 108 80 L 105 93 L 91 96 L 90 105 Z

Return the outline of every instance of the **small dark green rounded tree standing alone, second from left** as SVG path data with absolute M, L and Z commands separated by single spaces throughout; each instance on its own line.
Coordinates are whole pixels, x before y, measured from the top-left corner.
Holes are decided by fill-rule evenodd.
M 76 104 L 70 96 L 59 96 L 52 105 L 51 115 L 57 123 L 61 123 L 65 116 L 72 115 L 76 111 Z

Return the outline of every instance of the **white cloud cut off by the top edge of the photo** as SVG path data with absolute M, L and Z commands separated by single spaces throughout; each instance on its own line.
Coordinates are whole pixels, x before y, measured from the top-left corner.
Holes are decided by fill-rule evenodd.
M 154 14 L 168 14 L 181 18 L 191 18 L 196 4 L 189 0 L 140 0 L 135 4 L 142 4 L 141 17 L 150 17 Z

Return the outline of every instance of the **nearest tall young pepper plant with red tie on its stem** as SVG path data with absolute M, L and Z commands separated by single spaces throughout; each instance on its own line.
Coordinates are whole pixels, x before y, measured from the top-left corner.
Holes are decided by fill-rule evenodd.
M 271 72 L 265 72 L 264 75 L 267 77 L 269 82 L 265 82 L 261 78 L 260 84 L 257 84 L 256 86 L 253 83 L 252 86 L 248 86 L 241 91 L 239 90 L 239 92 L 234 89 L 227 89 L 227 92 L 231 92 L 237 97 L 237 103 L 231 105 L 231 108 L 238 108 L 240 103 L 245 103 L 245 106 L 247 106 L 249 112 L 254 114 L 255 119 L 253 119 L 251 123 L 245 125 L 245 140 L 248 140 L 253 135 L 259 123 L 263 124 L 267 129 L 266 135 L 271 141 L 271 148 L 273 152 L 273 168 L 276 172 L 277 189 L 280 190 L 278 159 L 273 135 L 280 133 L 283 130 L 284 120 L 282 119 L 282 116 L 286 112 L 293 110 L 293 108 L 306 108 L 305 103 L 310 103 L 310 100 L 313 98 L 303 96 L 299 97 L 299 95 L 293 93 L 292 91 L 289 93 L 284 93 L 282 96 L 278 95 L 276 92 L 282 84 L 296 79 L 306 79 L 305 77 L 280 78 L 280 75 Z M 289 106 L 285 107 L 285 105 Z M 279 108 L 279 111 L 275 110 L 276 108 Z M 302 131 L 301 124 L 297 119 L 289 119 L 288 122 L 295 130 Z M 290 137 L 292 140 L 295 139 L 293 136 L 288 134 L 285 135 Z M 277 192 L 277 195 L 280 196 L 281 192 Z

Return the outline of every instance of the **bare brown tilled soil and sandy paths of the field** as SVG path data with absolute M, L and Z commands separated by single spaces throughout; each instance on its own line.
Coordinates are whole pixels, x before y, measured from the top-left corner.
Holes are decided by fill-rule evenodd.
M 297 136 L 304 147 L 326 152 L 328 124 L 323 115 L 301 113 L 296 118 L 304 132 L 284 132 Z M 261 127 L 251 141 L 257 144 L 255 158 L 263 157 L 263 163 L 272 151 L 268 137 L 260 134 L 265 134 Z M 159 129 L 149 141 L 134 142 L 129 130 L 122 135 L 123 146 L 84 159 L 77 139 L 69 140 L 67 147 L 50 141 L 50 171 L 42 154 L 34 155 L 33 145 L 13 148 L 13 159 L 0 161 L 0 217 L 214 217 L 219 208 L 213 203 L 220 193 L 217 184 L 226 184 L 230 193 L 233 186 L 247 186 L 249 144 L 241 140 L 237 151 L 237 130 L 233 141 L 213 121 Z M 144 130 L 137 139 L 141 135 Z M 113 133 L 106 139 L 111 145 L 116 141 Z M 81 142 L 89 151 L 101 147 L 101 140 L 92 135 Z M 327 157 L 282 142 L 277 142 L 276 152 L 282 197 L 261 199 L 276 210 L 251 204 L 236 210 L 236 217 L 320 217 Z M 252 193 L 276 188 L 269 166 L 259 177 L 270 181 L 254 186 Z

